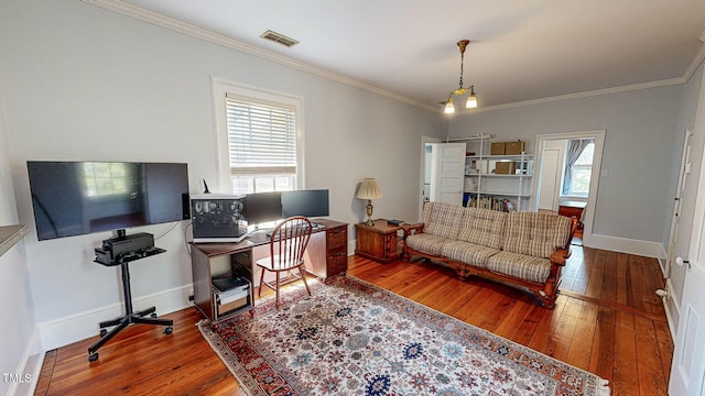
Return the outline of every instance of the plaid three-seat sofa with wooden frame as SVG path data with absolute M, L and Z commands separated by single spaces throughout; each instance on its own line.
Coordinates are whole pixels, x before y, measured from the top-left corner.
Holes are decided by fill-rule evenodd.
M 577 219 L 564 216 L 426 202 L 423 222 L 404 226 L 403 257 L 446 263 L 470 275 L 511 283 L 553 309 Z

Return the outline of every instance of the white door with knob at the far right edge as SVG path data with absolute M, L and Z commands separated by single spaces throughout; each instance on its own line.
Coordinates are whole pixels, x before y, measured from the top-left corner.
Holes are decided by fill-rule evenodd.
M 671 366 L 671 396 L 705 395 L 705 155 L 703 160 L 688 257 L 675 260 L 687 270 Z

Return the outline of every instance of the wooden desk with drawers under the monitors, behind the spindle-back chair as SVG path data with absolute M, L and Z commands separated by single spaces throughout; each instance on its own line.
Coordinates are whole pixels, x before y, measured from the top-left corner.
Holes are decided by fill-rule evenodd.
M 306 248 L 307 273 L 326 279 L 348 271 L 348 224 L 334 220 L 316 219 L 324 228 L 315 229 Z M 259 283 L 253 263 L 269 255 L 269 239 L 256 235 L 237 243 L 191 243 L 191 267 L 194 282 L 194 304 L 212 322 L 224 320 L 254 306 L 254 287 Z M 250 282 L 246 304 L 221 312 L 221 306 L 213 293 L 212 279 L 227 272 L 245 276 Z

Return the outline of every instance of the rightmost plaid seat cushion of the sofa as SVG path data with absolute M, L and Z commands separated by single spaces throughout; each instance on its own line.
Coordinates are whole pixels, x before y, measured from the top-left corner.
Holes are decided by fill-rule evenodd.
M 525 254 L 501 252 L 487 260 L 487 270 L 529 282 L 544 283 L 551 274 L 551 261 Z

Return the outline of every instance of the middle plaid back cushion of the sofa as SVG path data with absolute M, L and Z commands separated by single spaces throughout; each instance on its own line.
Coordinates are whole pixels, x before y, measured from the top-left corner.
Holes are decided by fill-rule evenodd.
M 497 210 L 465 208 L 458 241 L 500 250 L 507 213 Z

